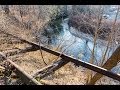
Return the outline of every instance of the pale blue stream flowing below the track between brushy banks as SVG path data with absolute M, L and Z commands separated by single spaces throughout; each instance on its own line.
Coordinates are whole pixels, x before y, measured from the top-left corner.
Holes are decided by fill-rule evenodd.
M 68 18 L 64 19 L 60 25 L 61 27 L 57 29 L 49 27 L 47 30 L 44 30 L 42 33 L 44 38 L 41 39 L 41 42 L 47 44 L 48 47 L 51 46 L 50 48 L 59 46 L 59 51 L 64 51 L 67 55 L 89 62 L 94 44 L 92 36 L 69 27 Z M 45 38 L 47 42 L 45 42 Z M 106 49 L 105 45 L 105 41 L 97 41 L 94 55 L 95 61 L 100 62 Z M 113 49 L 108 50 L 107 57 L 110 57 L 112 51 Z

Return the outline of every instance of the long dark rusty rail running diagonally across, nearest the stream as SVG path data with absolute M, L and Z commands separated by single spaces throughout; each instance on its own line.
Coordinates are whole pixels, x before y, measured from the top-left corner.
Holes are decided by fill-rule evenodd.
M 111 71 L 108 71 L 107 69 L 104 69 L 104 68 L 102 68 L 102 67 L 99 67 L 99 66 L 90 64 L 90 63 L 85 62 L 85 61 L 82 61 L 82 60 L 78 60 L 78 59 L 76 59 L 76 58 L 70 57 L 70 56 L 65 55 L 65 54 L 61 54 L 60 52 L 53 51 L 53 50 L 48 49 L 48 48 L 45 48 L 45 47 L 43 47 L 43 46 L 39 46 L 39 44 L 37 44 L 37 43 L 30 42 L 30 41 L 25 40 L 25 39 L 23 39 L 23 38 L 14 36 L 14 35 L 12 35 L 12 34 L 10 34 L 10 33 L 6 33 L 6 32 L 4 32 L 4 31 L 2 31 L 2 32 L 5 33 L 5 34 L 7 34 L 7 35 L 11 35 L 11 36 L 13 36 L 13 37 L 15 37 L 15 38 L 17 38 L 17 39 L 25 42 L 25 43 L 28 43 L 28 44 L 30 44 L 30 45 L 33 45 L 34 48 L 36 48 L 36 49 L 39 49 L 39 48 L 41 47 L 42 50 L 44 50 L 44 51 L 46 51 L 46 52 L 48 52 L 48 53 L 54 54 L 54 55 L 56 55 L 56 56 L 60 56 L 63 60 L 71 61 L 71 62 L 76 63 L 76 64 L 79 64 L 79 65 L 81 65 L 81 66 L 83 66 L 83 67 L 85 67 L 85 68 L 87 68 L 87 69 L 90 69 L 90 70 L 92 70 L 92 71 L 98 72 L 98 73 L 100 73 L 100 74 L 103 74 L 103 75 L 105 75 L 105 76 L 108 76 L 108 77 L 110 77 L 110 78 L 113 78 L 113 79 L 115 79 L 115 80 L 120 81 L 120 75 L 115 74 L 115 73 L 113 73 L 113 72 L 111 72 Z

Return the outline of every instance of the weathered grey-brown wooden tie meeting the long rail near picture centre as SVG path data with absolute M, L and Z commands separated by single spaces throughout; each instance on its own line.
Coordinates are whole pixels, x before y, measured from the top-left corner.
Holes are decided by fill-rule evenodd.
M 58 61 L 53 62 L 52 64 L 38 70 L 37 72 L 35 72 L 35 74 L 33 74 L 33 77 L 36 77 L 37 75 L 40 75 L 39 78 L 42 79 L 48 75 L 50 75 L 52 72 L 55 72 L 56 70 L 58 70 L 59 68 L 61 68 L 62 66 L 64 66 L 65 64 L 67 64 L 69 61 L 65 61 L 63 59 L 60 59 Z

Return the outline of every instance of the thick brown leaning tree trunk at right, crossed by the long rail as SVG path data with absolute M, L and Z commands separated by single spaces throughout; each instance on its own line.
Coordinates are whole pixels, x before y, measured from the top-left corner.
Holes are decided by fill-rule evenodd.
M 119 61 L 120 61 L 120 46 L 115 50 L 112 56 L 106 61 L 106 63 L 102 67 L 107 70 L 111 70 L 118 64 Z M 95 82 L 99 80 L 102 76 L 103 76 L 102 74 L 96 73 L 88 84 L 90 85 L 95 84 Z

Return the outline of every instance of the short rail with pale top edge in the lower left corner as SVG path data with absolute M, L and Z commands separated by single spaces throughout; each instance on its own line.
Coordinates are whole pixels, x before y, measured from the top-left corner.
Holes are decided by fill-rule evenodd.
M 27 85 L 42 85 L 40 82 L 38 82 L 28 73 L 26 73 L 24 70 L 22 70 L 17 64 L 12 62 L 11 60 L 7 60 L 7 62 L 12 64 L 12 66 L 15 68 L 14 72 L 17 73 L 17 75 L 21 78 L 21 80 Z

